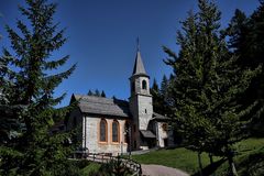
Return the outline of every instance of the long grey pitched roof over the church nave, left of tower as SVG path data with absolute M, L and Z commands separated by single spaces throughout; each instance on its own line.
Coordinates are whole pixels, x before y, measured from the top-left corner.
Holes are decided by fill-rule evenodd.
M 81 95 L 73 95 L 73 98 L 79 101 L 78 107 L 84 113 L 130 117 L 129 102 L 124 100 Z

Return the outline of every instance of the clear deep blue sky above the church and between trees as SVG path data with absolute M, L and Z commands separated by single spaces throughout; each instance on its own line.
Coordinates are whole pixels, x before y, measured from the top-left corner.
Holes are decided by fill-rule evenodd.
M 172 69 L 163 63 L 166 57 L 162 45 L 177 52 L 176 31 L 188 10 L 197 9 L 197 0 L 56 0 L 58 9 L 55 22 L 67 28 L 68 42 L 54 57 L 70 55 L 77 69 L 57 89 L 56 95 L 67 92 L 62 105 L 67 105 L 72 94 L 86 95 L 89 89 L 105 90 L 108 97 L 128 99 L 129 77 L 135 57 L 135 41 L 140 37 L 141 54 L 147 74 L 158 82 Z M 21 19 L 18 4 L 22 0 L 0 0 L 1 46 L 9 46 L 3 25 L 14 28 Z M 227 26 L 235 9 L 251 14 L 258 6 L 257 0 L 218 0 L 222 12 L 222 26 Z M 59 72 L 59 70 L 58 70 Z

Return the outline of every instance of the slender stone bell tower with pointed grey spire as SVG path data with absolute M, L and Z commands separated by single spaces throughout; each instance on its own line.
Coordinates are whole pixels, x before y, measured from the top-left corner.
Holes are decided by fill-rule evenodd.
M 146 74 L 138 40 L 138 50 L 132 76 L 130 77 L 130 111 L 133 116 L 133 147 L 140 147 L 140 131 L 147 130 L 153 114 L 152 95 L 150 92 L 150 76 Z

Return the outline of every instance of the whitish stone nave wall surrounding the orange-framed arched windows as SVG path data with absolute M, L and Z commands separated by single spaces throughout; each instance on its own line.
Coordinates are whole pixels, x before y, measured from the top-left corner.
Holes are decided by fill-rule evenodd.
M 99 124 L 101 118 L 95 117 L 85 117 L 84 118 L 84 127 L 86 129 L 82 130 L 82 146 L 88 147 L 90 153 L 112 153 L 113 155 L 118 155 L 120 153 L 127 153 L 128 144 L 124 143 L 124 124 L 125 120 L 118 120 L 119 122 L 119 142 L 112 142 L 112 122 L 114 119 L 106 119 L 107 121 L 107 142 L 100 142 L 99 140 Z

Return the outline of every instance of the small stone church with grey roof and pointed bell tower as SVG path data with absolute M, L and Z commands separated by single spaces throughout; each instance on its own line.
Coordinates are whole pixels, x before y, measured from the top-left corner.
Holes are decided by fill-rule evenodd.
M 78 102 L 66 122 L 66 130 L 80 127 L 77 139 L 89 153 L 123 154 L 131 151 L 174 145 L 168 118 L 153 111 L 150 76 L 138 47 L 130 79 L 129 101 L 73 95 Z

